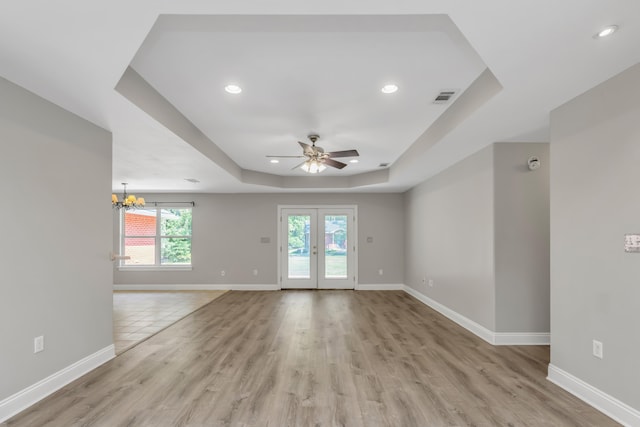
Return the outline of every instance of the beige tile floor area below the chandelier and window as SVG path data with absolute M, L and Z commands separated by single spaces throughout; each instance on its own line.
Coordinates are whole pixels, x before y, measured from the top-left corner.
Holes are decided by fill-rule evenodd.
M 113 341 L 116 354 L 160 332 L 226 291 L 114 291 Z

